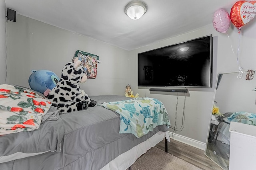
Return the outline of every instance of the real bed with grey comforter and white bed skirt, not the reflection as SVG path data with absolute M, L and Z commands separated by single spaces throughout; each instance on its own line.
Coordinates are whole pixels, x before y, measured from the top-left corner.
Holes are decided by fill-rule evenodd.
M 98 104 L 129 99 L 124 96 L 90 98 Z M 148 107 L 152 107 L 151 104 Z M 103 106 L 56 117 L 57 120 L 45 121 L 33 131 L 1 135 L 0 169 L 126 170 L 164 138 L 170 140 L 168 123 L 152 129 L 146 127 L 150 131 L 141 137 L 120 133 L 120 114 Z

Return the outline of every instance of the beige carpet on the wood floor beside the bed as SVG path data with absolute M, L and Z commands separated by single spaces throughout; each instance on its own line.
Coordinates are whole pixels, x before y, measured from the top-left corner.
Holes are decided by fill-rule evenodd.
M 156 147 L 140 156 L 132 170 L 201 170 L 188 162 L 166 153 Z

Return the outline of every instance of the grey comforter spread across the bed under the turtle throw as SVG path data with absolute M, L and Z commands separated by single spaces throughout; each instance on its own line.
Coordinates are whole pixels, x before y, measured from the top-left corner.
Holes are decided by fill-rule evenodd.
M 90 96 L 90 98 L 98 103 L 128 99 L 124 96 Z M 140 138 L 133 134 L 119 134 L 120 115 L 102 106 L 63 114 L 60 118 L 58 121 L 61 121 L 63 125 L 58 131 L 60 134 L 54 134 L 56 136 L 52 138 L 61 137 L 63 130 L 61 152 L 46 152 L 5 162 L 0 164 L 0 170 L 98 170 L 118 155 L 146 141 L 158 131 L 167 131 L 166 125 L 161 125 Z M 52 131 L 57 131 L 57 129 L 54 128 Z M 39 135 L 41 139 L 33 141 L 30 146 L 33 149 L 39 147 L 37 142 L 47 139 L 46 134 L 52 136 L 52 131 Z M 16 140 L 18 139 L 14 139 Z M 52 142 L 50 145 L 56 150 L 58 141 Z

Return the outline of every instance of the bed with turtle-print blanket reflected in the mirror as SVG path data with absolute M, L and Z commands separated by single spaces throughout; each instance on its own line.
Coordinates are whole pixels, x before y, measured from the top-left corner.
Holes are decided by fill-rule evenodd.
M 217 140 L 227 145 L 230 145 L 229 127 L 231 121 L 256 125 L 256 114 L 244 111 L 227 112 L 224 114 L 223 121 L 218 125 Z

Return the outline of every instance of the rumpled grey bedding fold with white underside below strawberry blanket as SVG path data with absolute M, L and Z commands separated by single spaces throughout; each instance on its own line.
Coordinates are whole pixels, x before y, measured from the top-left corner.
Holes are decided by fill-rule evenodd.
M 57 114 L 55 121 L 45 121 L 34 131 L 23 131 L 0 136 L 0 163 L 21 155 L 38 154 L 40 152 L 61 152 L 61 141 L 64 137 L 62 119 Z M 0 170 L 1 164 L 0 164 Z

